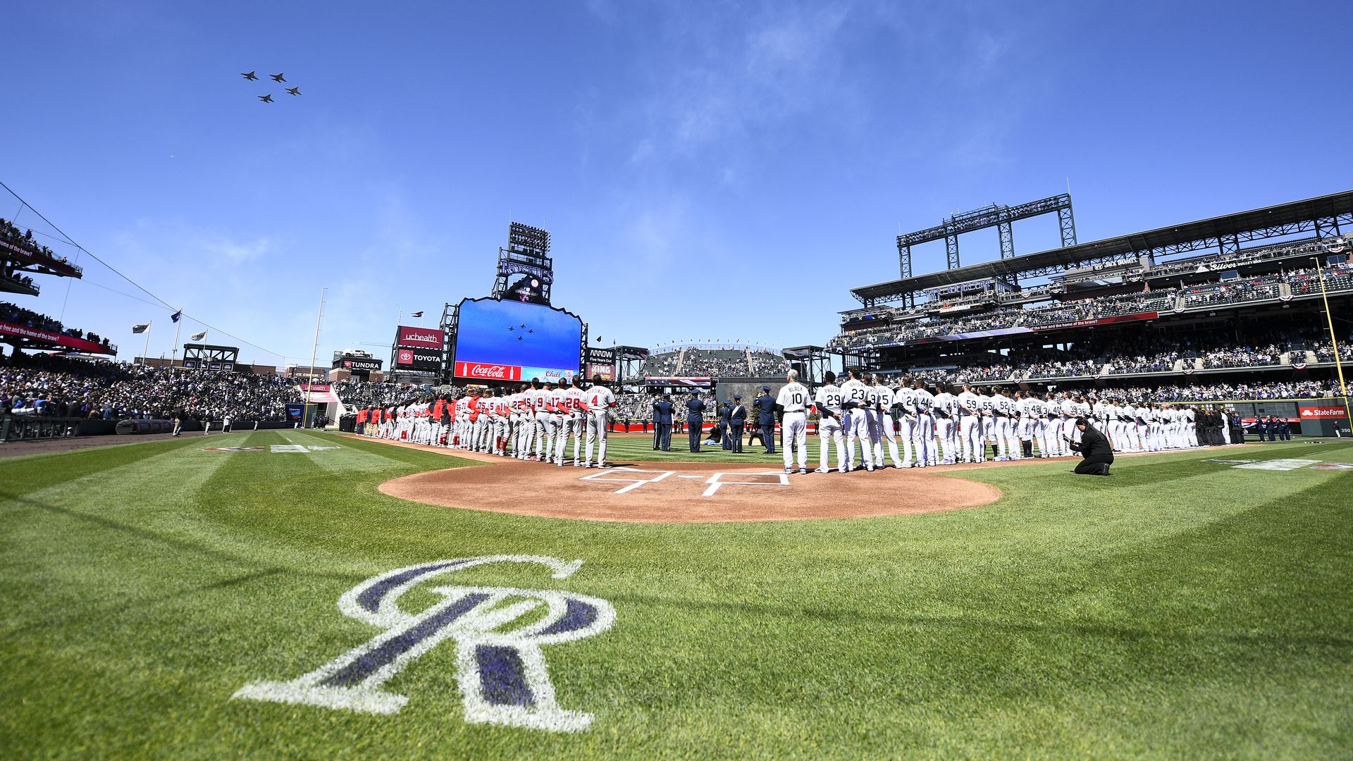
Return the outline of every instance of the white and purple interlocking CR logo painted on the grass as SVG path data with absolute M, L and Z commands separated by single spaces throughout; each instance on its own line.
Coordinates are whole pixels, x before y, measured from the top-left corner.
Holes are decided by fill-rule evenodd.
M 409 699 L 384 692 L 380 685 L 449 638 L 456 640 L 456 681 L 467 722 L 549 731 L 587 729 L 590 714 L 564 711 L 555 703 L 555 687 L 540 649 L 606 631 L 616 620 L 610 603 L 544 589 L 433 586 L 441 601 L 417 615 L 399 608 L 399 597 L 414 586 L 486 563 L 540 563 L 551 569 L 553 578 L 568 578 L 583 562 L 487 555 L 437 561 L 368 578 L 338 600 L 338 609 L 384 631 L 308 674 L 291 681 L 253 682 L 234 697 L 395 714 Z M 509 627 L 522 619 L 530 623 Z

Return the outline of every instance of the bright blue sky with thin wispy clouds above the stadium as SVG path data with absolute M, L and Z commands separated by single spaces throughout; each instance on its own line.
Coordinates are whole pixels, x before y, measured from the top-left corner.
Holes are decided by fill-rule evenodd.
M 551 230 L 553 302 L 606 345 L 823 343 L 851 287 L 897 276 L 900 230 L 1068 177 L 1081 241 L 1349 190 L 1350 20 L 1346 1 L 28 3 L 5 11 L 0 179 L 245 362 L 308 360 L 321 287 L 319 357 L 387 356 L 361 344 L 400 311 L 432 325 L 488 292 L 510 219 Z M 0 196 L 15 214 L 50 232 Z M 1055 244 L 1055 218 L 1015 227 L 1022 253 Z M 996 245 L 966 236 L 963 261 Z M 80 263 L 85 282 L 14 299 L 123 359 L 154 320 L 168 353 L 169 310 Z M 916 249 L 917 274 L 943 263 Z

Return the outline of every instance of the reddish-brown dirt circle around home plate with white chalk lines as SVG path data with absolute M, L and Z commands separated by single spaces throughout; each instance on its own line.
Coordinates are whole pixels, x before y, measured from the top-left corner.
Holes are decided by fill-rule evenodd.
M 931 469 L 786 475 L 775 466 L 736 463 L 582 469 L 492 459 L 395 478 L 380 490 L 448 508 L 636 523 L 896 516 L 971 508 L 1001 496 L 993 486 Z

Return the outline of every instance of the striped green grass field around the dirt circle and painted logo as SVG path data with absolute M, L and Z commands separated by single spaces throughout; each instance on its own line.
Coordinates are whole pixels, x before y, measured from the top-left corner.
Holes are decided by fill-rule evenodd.
M 273 444 L 341 448 L 204 450 Z M 617 462 L 655 459 L 643 436 L 613 444 Z M 969 470 L 954 475 L 1005 496 L 921 516 L 681 525 L 386 497 L 376 489 L 386 479 L 465 463 L 311 432 L 5 459 L 0 749 L 8 758 L 1348 758 L 1353 473 L 1237 470 L 1210 458 L 1353 462 L 1353 445 L 1123 458 L 1109 478 L 1073 477 L 1065 462 Z M 824 478 L 855 477 L 866 475 Z M 384 684 L 407 697 L 398 714 L 231 699 L 377 635 L 338 609 L 364 580 L 498 554 L 583 565 L 566 580 L 491 565 L 438 584 L 563 590 L 614 607 L 609 631 L 543 649 L 559 707 L 591 714 L 589 730 L 467 723 L 452 642 Z M 415 590 L 405 607 L 436 600 Z

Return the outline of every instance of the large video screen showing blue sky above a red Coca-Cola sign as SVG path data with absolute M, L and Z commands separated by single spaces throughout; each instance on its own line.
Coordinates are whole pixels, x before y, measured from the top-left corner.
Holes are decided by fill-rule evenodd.
M 457 378 L 560 380 L 578 374 L 583 321 L 549 306 L 491 298 L 460 302 Z

